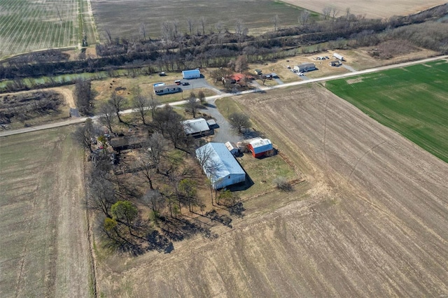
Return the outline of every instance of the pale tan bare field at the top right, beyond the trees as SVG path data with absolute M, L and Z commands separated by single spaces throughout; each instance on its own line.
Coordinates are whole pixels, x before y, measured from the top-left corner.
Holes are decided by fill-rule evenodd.
M 291 3 L 295 6 L 307 8 L 309 10 L 322 13 L 323 8 L 332 6 L 337 9 L 337 17 L 346 14 L 346 8 L 350 8 L 350 13 L 354 15 L 365 15 L 370 18 L 391 17 L 393 15 L 409 15 L 417 13 L 421 10 L 426 10 L 433 6 L 446 3 L 444 0 L 398 0 L 398 1 L 370 1 L 370 0 L 284 0 L 286 3 Z

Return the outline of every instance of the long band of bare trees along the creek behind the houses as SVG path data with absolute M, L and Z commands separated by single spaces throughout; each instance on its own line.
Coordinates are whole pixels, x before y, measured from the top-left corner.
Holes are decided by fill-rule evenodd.
M 29 89 L 23 78 L 48 76 L 49 81 L 35 83 L 31 87 L 52 87 L 73 83 L 51 80 L 52 76 L 67 73 L 107 71 L 109 76 L 113 76 L 117 69 L 129 69 L 131 76 L 137 76 L 196 67 L 224 67 L 239 55 L 246 56 L 248 62 L 279 59 L 298 53 L 286 52 L 288 49 L 323 42 L 330 42 L 330 46 L 338 48 L 346 45 L 339 41 L 353 38 L 360 41 L 351 43 L 353 47 L 398 38 L 446 53 L 448 49 L 444 41 L 448 39 L 447 24 L 433 24 L 432 21 L 446 15 L 447 8 L 448 4 L 444 4 L 414 15 L 395 16 L 387 20 L 365 19 L 362 15 L 349 13 L 349 10 L 344 15 L 332 17 L 333 10 L 330 15 L 325 10 L 324 20 L 314 22 L 309 14 L 302 13 L 297 18 L 297 26 L 279 28 L 279 20 L 276 19 L 273 20 L 274 31 L 260 36 L 249 35 L 242 21 L 236 22 L 232 32 L 218 22 L 209 32 L 204 29 L 199 34 L 193 34 L 193 31 L 190 34 L 189 31 L 181 32 L 174 20 L 162 23 L 159 39 L 128 40 L 111 36 L 108 43 L 96 45 L 99 57 L 95 58 L 83 52 L 75 61 L 69 61 L 63 54 L 57 54 L 57 50 L 52 50 L 50 54 L 32 53 L 8 59 L 0 63 L 0 80 L 13 81 L 0 92 Z M 437 39 L 431 40 L 429 37 L 434 34 Z

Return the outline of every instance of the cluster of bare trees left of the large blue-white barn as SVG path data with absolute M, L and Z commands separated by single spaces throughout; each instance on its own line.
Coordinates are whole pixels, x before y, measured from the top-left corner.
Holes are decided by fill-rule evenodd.
M 169 251 L 172 241 L 190 234 L 213 236 L 207 225 L 191 222 L 183 216 L 185 212 L 228 226 L 232 222 L 228 215 L 219 215 L 213 210 L 204 213 L 206 205 L 197 195 L 197 183 L 204 176 L 198 174 L 199 167 L 193 162 L 197 160 L 193 149 L 198 143 L 185 136 L 180 120 L 171 106 L 155 108 L 153 117 L 146 118 L 144 126 L 151 131 L 151 136 L 144 140 L 142 148 L 133 150 L 133 158 L 118 165 L 111 164 L 109 156 L 102 153 L 92 159 L 92 169 L 87 173 L 87 208 L 97 213 L 98 231 L 120 250 L 136 254 L 153 249 Z M 101 129 L 88 119 L 73 137 L 92 152 L 95 139 L 106 145 L 106 138 L 97 137 L 101 134 Z M 182 157 L 173 157 L 176 148 L 183 150 Z M 136 189 L 136 178 L 146 182 L 144 191 L 141 187 Z M 208 183 L 212 204 L 227 206 L 231 215 L 242 216 L 244 207 L 239 197 L 231 192 L 213 192 Z

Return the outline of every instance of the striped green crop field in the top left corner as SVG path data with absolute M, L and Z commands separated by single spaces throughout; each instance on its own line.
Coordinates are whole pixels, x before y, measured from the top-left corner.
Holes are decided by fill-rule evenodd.
M 76 46 L 83 23 L 94 40 L 88 7 L 87 0 L 0 0 L 0 58 Z

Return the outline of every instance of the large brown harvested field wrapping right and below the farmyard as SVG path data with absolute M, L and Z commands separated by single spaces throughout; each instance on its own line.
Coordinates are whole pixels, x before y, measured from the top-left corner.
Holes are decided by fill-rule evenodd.
M 106 297 L 445 297 L 448 165 L 318 85 L 236 97 L 307 182 L 169 254 L 107 257 Z

